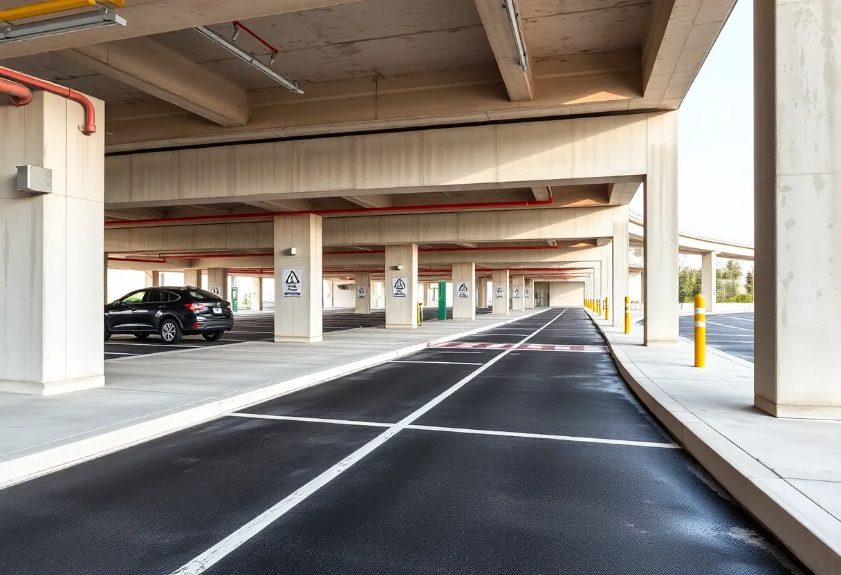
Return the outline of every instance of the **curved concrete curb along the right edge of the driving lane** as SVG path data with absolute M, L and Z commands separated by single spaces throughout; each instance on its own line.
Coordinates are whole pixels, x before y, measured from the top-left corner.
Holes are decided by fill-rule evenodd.
M 595 320 L 632 392 L 718 483 L 816 575 L 841 573 L 841 521 L 643 375 Z M 707 348 L 709 350 L 709 348 Z M 716 350 L 717 355 L 729 356 Z M 752 363 L 739 360 L 738 362 Z

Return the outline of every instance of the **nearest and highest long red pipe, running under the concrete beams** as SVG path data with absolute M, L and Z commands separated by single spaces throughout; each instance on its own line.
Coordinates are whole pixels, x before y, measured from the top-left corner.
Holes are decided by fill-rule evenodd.
M 183 218 L 155 218 L 155 219 L 124 219 L 116 222 L 105 222 L 106 227 L 120 226 L 132 227 L 135 225 L 151 224 L 188 224 L 192 222 L 213 222 L 229 219 L 267 219 L 275 216 L 290 216 L 300 214 L 341 215 L 341 214 L 375 214 L 383 212 L 416 212 L 419 210 L 452 211 L 454 209 L 470 208 L 525 208 L 527 206 L 543 206 L 553 203 L 553 198 L 547 200 L 520 200 L 516 202 L 477 202 L 477 203 L 449 203 L 431 204 L 420 206 L 391 206 L 388 208 L 340 208 L 340 209 L 317 209 L 302 210 L 294 212 L 262 212 L 258 214 L 210 214 L 203 216 L 186 216 Z

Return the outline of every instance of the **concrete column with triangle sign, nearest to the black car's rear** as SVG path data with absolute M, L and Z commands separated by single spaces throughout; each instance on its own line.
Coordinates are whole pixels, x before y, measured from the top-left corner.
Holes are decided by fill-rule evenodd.
M 274 340 L 322 340 L 321 216 L 274 219 Z M 294 255 L 293 255 L 294 252 Z

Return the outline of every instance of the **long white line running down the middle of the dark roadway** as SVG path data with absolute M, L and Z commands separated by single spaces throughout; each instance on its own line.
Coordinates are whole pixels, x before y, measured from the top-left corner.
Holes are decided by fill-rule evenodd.
M 526 341 L 532 339 L 533 336 L 540 333 L 544 328 L 548 325 L 552 324 L 553 321 L 558 319 L 563 315 L 563 312 L 566 310 L 564 309 L 560 314 L 556 315 L 551 321 L 547 324 L 544 324 L 541 328 L 534 331 L 532 335 L 529 335 L 521 343 L 526 343 Z M 232 551 L 235 551 L 239 546 L 241 546 L 246 541 L 250 540 L 251 537 L 260 533 L 260 531 L 266 529 L 269 525 L 286 514 L 290 509 L 294 509 L 296 505 L 307 499 L 310 495 L 318 491 L 320 488 L 324 487 L 327 483 L 330 483 L 336 477 L 339 477 L 342 472 L 346 472 L 350 469 L 354 464 L 362 460 L 364 456 L 367 456 L 372 451 L 376 450 L 379 446 L 382 446 L 383 443 L 390 440 L 394 435 L 397 435 L 400 431 L 405 430 L 405 428 L 415 419 L 421 417 L 421 415 L 426 414 L 427 411 L 434 408 L 437 404 L 440 404 L 444 399 L 450 397 L 453 393 L 456 393 L 459 389 L 463 388 L 468 382 L 472 381 L 475 377 L 479 376 L 482 372 L 487 370 L 489 367 L 493 366 L 497 361 L 500 361 L 503 357 L 507 356 L 510 353 L 510 350 L 505 350 L 500 355 L 493 357 L 487 363 L 484 363 L 478 369 L 473 370 L 468 376 L 463 377 L 459 382 L 453 385 L 451 388 L 447 389 L 443 393 L 439 394 L 436 398 L 432 399 L 429 403 L 424 404 L 420 409 L 415 410 L 413 413 L 407 415 L 404 419 L 401 419 L 396 424 L 389 427 L 389 429 L 383 431 L 380 435 L 377 435 L 373 438 L 373 440 L 368 441 L 364 446 L 354 451 L 351 455 L 346 456 L 341 462 L 336 463 L 333 467 L 330 467 L 325 472 L 322 472 L 318 477 L 306 483 L 303 487 L 297 489 L 294 493 L 289 494 L 286 498 L 279 501 L 277 504 L 272 505 L 269 509 L 266 509 L 262 512 L 262 514 L 257 515 L 253 520 L 243 525 L 238 530 L 235 530 L 233 533 L 225 537 L 222 541 L 217 543 L 216 545 L 210 547 L 207 551 L 200 554 L 198 557 L 195 557 L 193 560 L 185 563 L 182 567 L 177 568 L 175 571 L 172 572 L 172 575 L 198 575 L 198 573 L 202 573 L 213 567 L 217 562 L 220 562 L 223 558 L 228 556 Z

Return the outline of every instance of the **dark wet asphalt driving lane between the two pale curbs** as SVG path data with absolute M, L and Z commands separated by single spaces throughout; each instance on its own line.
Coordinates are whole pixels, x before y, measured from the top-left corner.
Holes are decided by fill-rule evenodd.
M 482 335 L 603 345 L 582 309 Z M 801 572 L 606 352 L 430 348 L 6 488 L 0 517 L 15 575 Z

